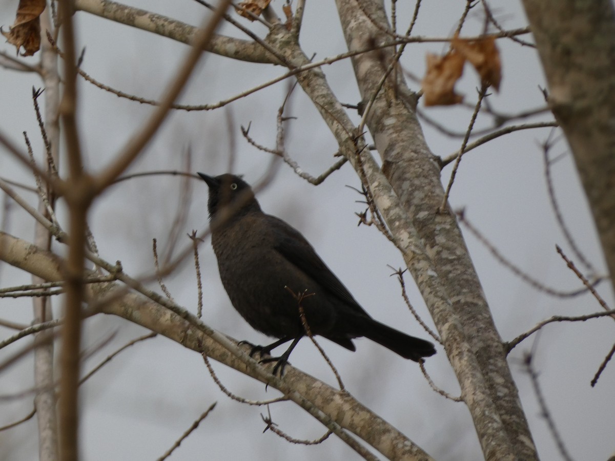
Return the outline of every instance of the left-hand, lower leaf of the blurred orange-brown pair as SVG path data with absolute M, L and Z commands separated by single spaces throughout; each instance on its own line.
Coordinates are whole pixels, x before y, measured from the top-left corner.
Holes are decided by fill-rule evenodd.
M 426 106 L 450 106 L 463 101 L 455 93 L 455 84 L 463 74 L 465 62 L 466 58 L 454 50 L 444 56 L 427 54 L 427 71 L 421 82 Z

